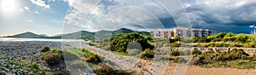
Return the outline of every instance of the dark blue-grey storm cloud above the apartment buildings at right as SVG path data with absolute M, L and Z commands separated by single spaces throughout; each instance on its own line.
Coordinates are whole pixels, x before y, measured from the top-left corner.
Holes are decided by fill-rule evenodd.
M 256 24 L 256 2 L 253 0 L 183 0 L 182 3 L 194 27 L 249 33 L 252 31 L 249 26 Z

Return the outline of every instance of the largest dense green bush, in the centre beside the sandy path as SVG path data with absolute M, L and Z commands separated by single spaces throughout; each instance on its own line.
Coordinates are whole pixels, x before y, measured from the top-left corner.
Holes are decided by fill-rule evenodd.
M 150 44 L 153 38 L 142 36 L 137 32 L 131 32 L 110 39 L 110 50 L 129 54 L 132 49 L 141 49 L 142 58 L 154 58 L 154 45 Z M 130 51 L 131 53 L 132 51 Z

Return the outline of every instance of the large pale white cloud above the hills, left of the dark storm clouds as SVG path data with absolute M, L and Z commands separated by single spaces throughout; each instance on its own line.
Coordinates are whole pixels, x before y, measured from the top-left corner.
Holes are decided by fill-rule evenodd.
M 70 0 L 70 2 L 72 1 Z M 161 24 L 160 20 L 157 19 L 159 16 L 156 15 L 166 14 L 166 11 L 161 11 L 163 9 L 159 9 L 159 5 L 154 10 L 149 11 L 144 7 L 148 3 L 154 2 L 148 2 L 147 0 L 76 0 L 70 6 L 71 9 L 65 17 L 65 23 L 75 26 L 84 25 L 83 27 L 86 29 L 95 30 L 102 30 L 99 27 L 113 30 L 115 27 L 122 26 L 122 23 L 125 24 L 125 22 L 139 22 L 138 24 L 141 26 L 157 28 L 156 26 L 159 27 Z

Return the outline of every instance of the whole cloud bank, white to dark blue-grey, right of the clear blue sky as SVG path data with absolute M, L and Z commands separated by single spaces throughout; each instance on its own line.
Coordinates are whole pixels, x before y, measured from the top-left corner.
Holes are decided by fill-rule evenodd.
M 86 23 L 84 27 L 87 29 L 98 30 L 101 28 L 96 28 L 96 26 L 101 24 L 102 29 L 111 30 L 125 22 L 134 22 L 152 29 L 160 28 L 160 26 L 164 28 L 189 27 L 191 23 L 195 28 L 208 28 L 217 32 L 246 33 L 253 30 L 249 26 L 256 24 L 255 0 L 180 0 L 183 7 L 167 0 L 156 0 L 161 3 L 155 3 L 154 0 L 95 1 L 100 3 L 88 3 L 88 1 L 90 0 L 86 2 L 77 0 L 73 3 L 74 9 L 71 11 L 74 12 L 67 14 L 67 23 L 79 26 Z M 85 22 L 83 14 L 89 14 Z M 242 29 L 234 30 L 239 28 Z

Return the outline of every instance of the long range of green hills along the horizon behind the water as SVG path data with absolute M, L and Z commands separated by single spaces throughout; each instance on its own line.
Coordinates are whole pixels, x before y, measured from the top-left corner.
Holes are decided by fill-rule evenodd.
M 98 32 L 87 32 L 87 31 L 79 31 L 79 32 L 72 32 L 72 33 L 67 33 L 67 34 L 62 34 L 62 35 L 56 35 L 52 37 L 48 37 L 47 35 L 38 35 L 32 32 L 24 32 L 20 33 L 14 36 L 8 36 L 4 38 L 64 38 L 64 39 L 102 39 L 102 38 L 112 38 L 116 36 L 121 36 L 127 33 L 131 32 L 137 32 L 137 31 L 132 31 L 130 29 L 126 28 L 120 28 L 119 30 L 116 31 L 98 31 Z M 137 32 L 142 35 L 150 35 L 149 32 Z

